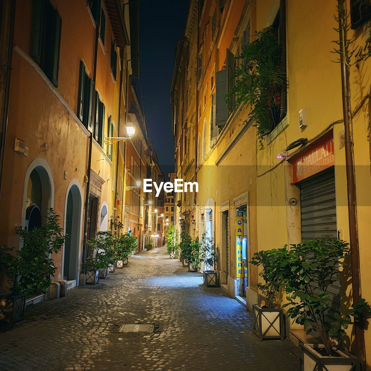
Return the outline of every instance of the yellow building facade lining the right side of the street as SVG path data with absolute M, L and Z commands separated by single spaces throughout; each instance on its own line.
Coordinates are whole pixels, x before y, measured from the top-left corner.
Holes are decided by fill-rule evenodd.
M 220 284 L 250 310 L 262 297 L 258 270 L 243 263 L 237 247 L 237 222 L 242 222 L 247 261 L 259 250 L 305 239 L 349 241 L 341 70 L 334 63 L 338 55 L 330 53 L 333 40 L 339 40 L 336 6 L 335 0 L 191 1 L 185 38 L 176 49 L 175 172 L 197 181 L 199 191 L 175 194 L 174 220 L 192 237 L 207 231 L 215 239 Z M 354 22 L 353 1 L 346 6 L 352 13 L 352 47 L 365 45 L 367 23 Z M 279 35 L 288 85 L 280 97 L 280 119 L 260 147 L 250 108 L 229 106 L 226 93 L 229 71 L 240 63 L 234 57 L 255 39 L 255 31 L 268 26 Z M 368 302 L 370 63 L 350 68 L 360 280 Z M 331 292 L 334 310 L 344 311 L 352 301 L 348 278 Z M 289 329 L 293 340 L 302 338 L 298 325 Z M 354 351 L 351 328 L 347 334 L 344 344 Z M 369 330 L 364 339 L 371 364 Z

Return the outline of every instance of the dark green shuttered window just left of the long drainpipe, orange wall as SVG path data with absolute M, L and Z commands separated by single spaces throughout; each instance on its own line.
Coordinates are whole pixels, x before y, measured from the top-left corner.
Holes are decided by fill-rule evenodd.
M 86 73 L 85 64 L 80 61 L 79 96 L 77 116 L 89 131 L 93 131 L 94 83 Z

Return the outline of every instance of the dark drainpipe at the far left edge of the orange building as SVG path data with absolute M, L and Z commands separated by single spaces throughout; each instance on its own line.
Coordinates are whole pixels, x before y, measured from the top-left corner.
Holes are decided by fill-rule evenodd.
M 12 57 L 13 57 L 13 37 L 14 37 L 14 20 L 16 17 L 16 0 L 8 1 L 3 3 L 3 8 L 7 7 L 7 12 L 2 9 L 3 20 L 4 16 L 9 16 L 9 37 L 8 37 L 8 55 L 5 66 L 1 66 L 6 69 L 4 79 L 4 98 L 2 102 L 3 115 L 1 117 L 1 147 L 0 147 L 0 195 L 1 195 L 1 180 L 3 177 L 3 165 L 5 156 L 5 139 L 6 129 L 8 125 L 8 111 L 9 111 L 9 91 L 10 91 L 10 73 L 12 72 Z M 10 14 L 8 14 L 10 12 Z M 5 33 L 4 33 L 5 34 Z M 4 38 L 6 35 L 2 35 Z

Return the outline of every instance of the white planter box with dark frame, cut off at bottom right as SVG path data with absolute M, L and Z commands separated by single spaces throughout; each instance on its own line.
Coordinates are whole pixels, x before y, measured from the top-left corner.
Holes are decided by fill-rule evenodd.
M 301 371 L 360 371 L 359 360 L 354 355 L 334 350 L 339 357 L 328 357 L 319 354 L 313 349 L 324 348 L 324 345 L 301 344 L 300 345 L 300 370 Z

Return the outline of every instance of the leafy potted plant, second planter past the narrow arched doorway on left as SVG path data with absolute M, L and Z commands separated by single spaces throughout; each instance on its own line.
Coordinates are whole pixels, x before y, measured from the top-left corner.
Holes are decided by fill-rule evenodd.
M 99 265 L 99 278 L 106 278 L 108 267 L 111 267 L 112 271 L 112 266 L 115 266 L 116 236 L 109 231 L 100 231 L 95 238 L 86 243 L 95 253 Z

